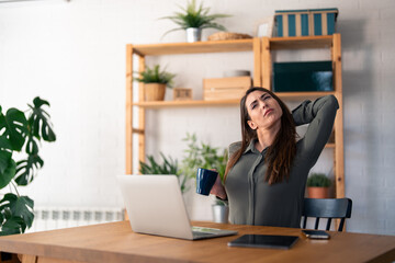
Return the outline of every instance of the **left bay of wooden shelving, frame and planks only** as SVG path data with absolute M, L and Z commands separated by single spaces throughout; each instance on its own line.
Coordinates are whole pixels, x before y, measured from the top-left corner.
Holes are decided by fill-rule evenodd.
M 138 85 L 138 102 L 133 98 L 133 64 L 134 56 L 138 57 L 138 70 L 145 68 L 146 56 L 205 54 L 205 53 L 233 53 L 252 52 L 253 54 L 253 85 L 261 85 L 261 41 L 260 38 L 196 42 L 196 43 L 170 43 L 149 45 L 126 45 L 126 173 L 133 172 L 133 134 L 138 134 L 138 160 L 145 158 L 145 111 L 146 108 L 160 108 L 167 106 L 219 106 L 237 104 L 236 101 L 189 101 L 189 102 L 144 102 L 144 84 Z M 133 127 L 133 111 L 138 106 L 138 127 Z

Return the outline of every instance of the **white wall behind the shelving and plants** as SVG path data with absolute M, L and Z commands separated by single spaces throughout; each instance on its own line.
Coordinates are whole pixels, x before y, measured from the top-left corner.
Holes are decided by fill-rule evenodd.
M 55 144 L 43 145 L 45 167 L 21 190 L 37 206 L 123 205 L 114 175 L 125 170 L 125 45 L 183 42 L 183 32 L 160 38 L 174 25 L 158 18 L 177 11 L 177 3 L 185 1 L 0 3 L 0 105 L 26 108 L 36 95 L 48 100 L 58 136 Z M 255 23 L 274 10 L 339 9 L 346 195 L 353 199 L 348 230 L 395 235 L 395 1 L 206 0 L 205 5 L 234 15 L 222 21 L 230 32 L 251 35 Z M 206 30 L 203 38 L 214 32 Z M 202 96 L 202 78 L 221 77 L 226 69 L 252 70 L 251 53 L 147 60 L 158 61 L 178 73 L 179 87 L 193 88 L 195 99 Z M 147 153 L 180 159 L 187 132 L 217 147 L 240 136 L 235 107 L 150 111 L 147 119 Z M 328 165 L 324 161 L 315 169 Z M 187 198 L 193 219 L 210 219 L 210 199 L 192 192 Z

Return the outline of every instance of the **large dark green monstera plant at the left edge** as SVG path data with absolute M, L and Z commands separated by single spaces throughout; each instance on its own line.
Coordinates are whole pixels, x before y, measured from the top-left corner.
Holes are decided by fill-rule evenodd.
M 10 186 L 10 193 L 0 197 L 0 236 L 22 233 L 32 226 L 34 202 L 21 196 L 18 186 L 31 183 L 44 165 L 41 140 L 56 140 L 49 114 L 43 110 L 49 103 L 37 96 L 27 105 L 26 112 L 11 107 L 7 113 L 0 105 L 0 190 Z M 24 152 L 25 158 L 15 161 L 15 152 Z

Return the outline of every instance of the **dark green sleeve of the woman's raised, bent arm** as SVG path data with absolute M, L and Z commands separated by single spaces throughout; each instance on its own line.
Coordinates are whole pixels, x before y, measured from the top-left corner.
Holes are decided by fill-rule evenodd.
M 334 127 L 336 112 L 339 108 L 337 99 L 327 95 L 312 101 L 304 101 L 292 111 L 295 125 L 309 124 L 300 144 L 313 164 L 317 161 Z

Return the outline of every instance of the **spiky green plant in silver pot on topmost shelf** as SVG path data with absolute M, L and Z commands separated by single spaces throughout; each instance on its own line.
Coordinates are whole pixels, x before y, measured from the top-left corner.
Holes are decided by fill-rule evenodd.
M 180 27 L 170 30 L 165 33 L 168 34 L 172 31 L 185 30 L 187 42 L 199 42 L 202 38 L 203 28 L 216 28 L 226 31 L 225 26 L 214 22 L 216 19 L 228 18 L 228 14 L 208 14 L 210 8 L 203 8 L 203 2 L 196 8 L 196 1 L 192 0 L 187 3 L 187 8 L 180 7 L 183 12 L 176 12 L 172 16 L 165 16 Z M 163 36 L 165 36 L 163 35 Z

